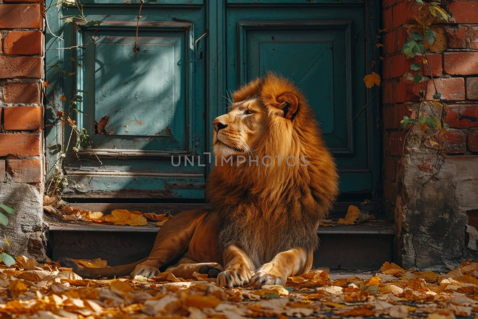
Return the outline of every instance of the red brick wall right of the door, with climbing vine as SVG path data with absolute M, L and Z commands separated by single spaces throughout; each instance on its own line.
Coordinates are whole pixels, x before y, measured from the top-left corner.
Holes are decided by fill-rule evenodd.
M 403 116 L 416 117 L 412 104 L 421 99 L 433 99 L 435 93 L 431 80 L 424 79 L 413 84 L 413 75 L 419 71 L 410 70 L 410 65 L 422 65 L 422 56 L 406 59 L 401 53 L 402 45 L 411 32 L 418 14 L 418 4 L 412 0 L 384 0 L 383 36 L 384 60 L 382 74 L 383 88 L 383 188 L 385 207 L 393 216 L 397 189 L 401 187 L 401 158 L 405 131 L 400 126 Z M 436 19 L 431 28 L 437 40 L 425 45 L 435 78 L 435 85 L 445 103 L 445 122 L 450 126 L 440 139 L 449 155 L 478 152 L 478 1 L 449 2 L 449 9 L 455 22 Z M 425 76 L 430 72 L 425 69 Z M 436 138 L 435 138 L 436 139 Z M 428 147 L 434 147 L 427 141 Z M 426 161 L 420 170 L 433 173 Z

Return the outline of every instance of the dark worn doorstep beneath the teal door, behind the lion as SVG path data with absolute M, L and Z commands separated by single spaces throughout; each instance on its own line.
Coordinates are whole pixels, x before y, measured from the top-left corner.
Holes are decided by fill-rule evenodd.
M 332 219 L 345 216 L 350 203 L 338 204 Z M 193 208 L 207 208 L 206 204 L 98 204 L 81 203 L 72 206 L 90 211 L 110 212 L 112 209 L 172 214 Z M 344 210 L 345 209 L 345 210 Z M 146 256 L 160 227 L 98 224 L 83 221 L 66 222 L 45 215 L 49 224 L 49 255 L 75 259 L 102 258 L 110 265 L 127 264 Z M 314 267 L 338 270 L 378 269 L 391 261 L 394 233 L 390 223 L 370 221 L 356 225 L 321 226 L 317 230 L 319 248 L 314 255 Z

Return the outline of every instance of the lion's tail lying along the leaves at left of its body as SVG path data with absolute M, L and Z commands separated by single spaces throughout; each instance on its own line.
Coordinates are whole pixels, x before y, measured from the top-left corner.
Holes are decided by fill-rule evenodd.
M 114 266 L 114 267 L 103 267 L 103 268 L 92 268 L 92 267 L 81 266 L 79 264 L 76 264 L 76 262 L 73 259 L 68 257 L 60 258 L 59 262 L 63 267 L 72 268 L 74 273 L 85 278 L 93 278 L 97 276 L 110 278 L 115 275 L 116 276 L 130 275 L 130 273 L 134 270 L 134 267 L 136 267 L 136 265 L 138 264 L 141 264 L 146 259 L 147 257 L 131 264 L 125 264 L 125 265 Z

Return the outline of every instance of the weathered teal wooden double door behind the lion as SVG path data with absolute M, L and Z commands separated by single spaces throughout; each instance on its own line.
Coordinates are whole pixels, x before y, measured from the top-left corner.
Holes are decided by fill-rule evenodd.
M 64 111 L 89 135 L 74 149 L 79 136 L 68 125 L 47 128 L 49 171 L 66 155 L 67 197 L 204 199 L 210 167 L 197 156 L 204 163 L 210 152 L 211 122 L 226 112 L 229 91 L 268 70 L 304 90 L 337 158 L 341 191 L 377 188 L 377 114 L 369 108 L 352 121 L 369 99 L 369 4 L 146 0 L 137 23 L 139 0 L 80 2 L 83 13 L 47 11 L 64 40 L 47 33 L 51 113 Z M 72 18 L 81 14 L 87 22 Z M 178 155 L 196 165 L 172 165 Z

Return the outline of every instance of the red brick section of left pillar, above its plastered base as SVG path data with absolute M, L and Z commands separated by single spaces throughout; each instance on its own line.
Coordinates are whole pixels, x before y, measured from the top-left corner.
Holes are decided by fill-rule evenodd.
M 43 3 L 0 0 L 0 182 L 43 181 Z

